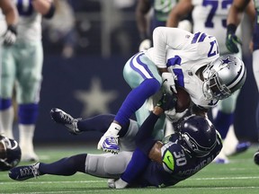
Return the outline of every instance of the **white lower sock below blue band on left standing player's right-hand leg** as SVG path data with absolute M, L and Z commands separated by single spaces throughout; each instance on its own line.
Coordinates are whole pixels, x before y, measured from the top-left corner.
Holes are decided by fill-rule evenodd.
M 33 136 L 35 125 L 19 124 L 19 145 L 22 149 L 22 154 L 34 153 Z

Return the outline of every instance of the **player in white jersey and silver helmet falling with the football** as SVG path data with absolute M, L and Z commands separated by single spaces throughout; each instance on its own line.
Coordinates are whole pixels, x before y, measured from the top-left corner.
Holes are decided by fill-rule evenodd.
M 157 27 L 153 32 L 153 42 L 153 48 L 137 53 L 129 58 L 124 66 L 123 75 L 132 91 L 123 101 L 110 128 L 98 143 L 98 148 L 103 151 L 118 152 L 120 148 L 117 135 L 121 126 L 128 122 L 133 113 L 137 117 L 138 125 L 141 125 L 156 105 L 163 90 L 167 93 L 177 93 L 175 84 L 190 93 L 197 109 L 206 110 L 215 106 L 219 99 L 227 98 L 234 93 L 246 80 L 246 68 L 241 67 L 244 66 L 242 60 L 234 56 L 219 57 L 217 40 L 206 33 L 192 34 L 178 28 Z M 233 66 L 235 63 L 241 66 L 232 69 L 236 68 Z M 218 67 L 214 69 L 212 66 Z M 236 81 L 232 84 L 224 83 L 229 84 L 227 88 L 214 84 L 220 88 L 216 92 L 211 90 L 209 85 L 215 82 L 211 81 L 212 72 L 218 72 L 219 69 L 227 71 L 228 81 Z M 222 80 L 228 82 L 223 77 Z M 219 84 L 218 81 L 217 83 Z M 183 114 L 184 111 L 166 112 L 166 115 L 169 115 L 168 119 L 180 119 Z M 156 139 L 164 137 L 164 127 L 165 117 L 161 117 L 153 133 Z

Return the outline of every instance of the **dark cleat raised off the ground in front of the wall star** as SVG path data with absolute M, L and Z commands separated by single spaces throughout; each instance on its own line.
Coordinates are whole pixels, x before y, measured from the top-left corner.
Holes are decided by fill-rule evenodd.
M 55 122 L 65 125 L 70 134 L 76 135 L 81 133 L 77 128 L 77 122 L 81 119 L 74 119 L 71 115 L 67 114 L 67 112 L 58 108 L 51 109 L 50 116 Z

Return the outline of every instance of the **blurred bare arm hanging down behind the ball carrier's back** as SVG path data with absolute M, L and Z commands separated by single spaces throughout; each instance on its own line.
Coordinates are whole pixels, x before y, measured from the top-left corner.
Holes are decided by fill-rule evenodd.
M 140 40 L 145 40 L 148 38 L 147 33 L 147 13 L 149 12 L 151 5 L 149 0 L 138 0 L 136 7 L 136 21 Z

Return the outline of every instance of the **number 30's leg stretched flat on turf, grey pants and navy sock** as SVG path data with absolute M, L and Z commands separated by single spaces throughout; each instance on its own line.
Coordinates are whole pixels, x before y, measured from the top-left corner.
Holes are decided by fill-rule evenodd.
M 9 177 L 15 181 L 24 181 L 44 174 L 71 176 L 76 172 L 84 172 L 96 177 L 116 179 L 125 171 L 131 154 L 76 154 L 54 163 L 14 167 L 10 170 Z

